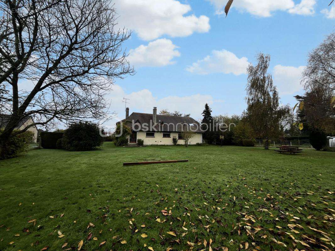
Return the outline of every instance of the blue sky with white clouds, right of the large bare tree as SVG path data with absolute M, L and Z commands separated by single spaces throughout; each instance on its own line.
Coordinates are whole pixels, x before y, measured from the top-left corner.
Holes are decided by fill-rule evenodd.
M 133 31 L 125 47 L 136 74 L 116 80 L 111 111 L 152 112 L 157 106 L 201 117 L 241 114 L 246 108 L 245 66 L 258 52 L 272 57 L 270 72 L 281 102 L 303 93 L 299 78 L 308 53 L 334 30 L 330 0 L 117 0 L 119 23 Z M 206 58 L 206 59 L 205 59 Z M 205 59 L 205 60 L 204 60 Z M 114 123 L 114 122 L 113 122 Z

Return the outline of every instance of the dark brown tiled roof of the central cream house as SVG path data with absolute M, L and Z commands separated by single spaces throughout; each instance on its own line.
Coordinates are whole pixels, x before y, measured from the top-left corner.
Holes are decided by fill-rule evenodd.
M 157 114 L 157 124 L 155 127 L 155 131 L 157 132 L 181 132 L 182 131 L 182 124 L 186 123 L 188 126 L 196 133 L 203 133 L 200 130 L 200 124 L 194 118 L 191 117 L 182 117 L 182 116 L 167 116 L 167 115 L 160 115 Z M 140 113 L 140 112 L 133 112 L 127 119 L 123 119 L 120 122 L 126 122 L 127 125 L 131 128 L 132 121 L 134 121 L 137 125 L 141 125 L 140 131 L 150 131 L 146 130 L 143 127 L 145 123 L 150 127 L 150 120 L 152 120 L 152 114 L 150 113 Z M 191 126 L 193 124 L 194 126 Z M 136 126 L 136 129 L 138 127 Z

